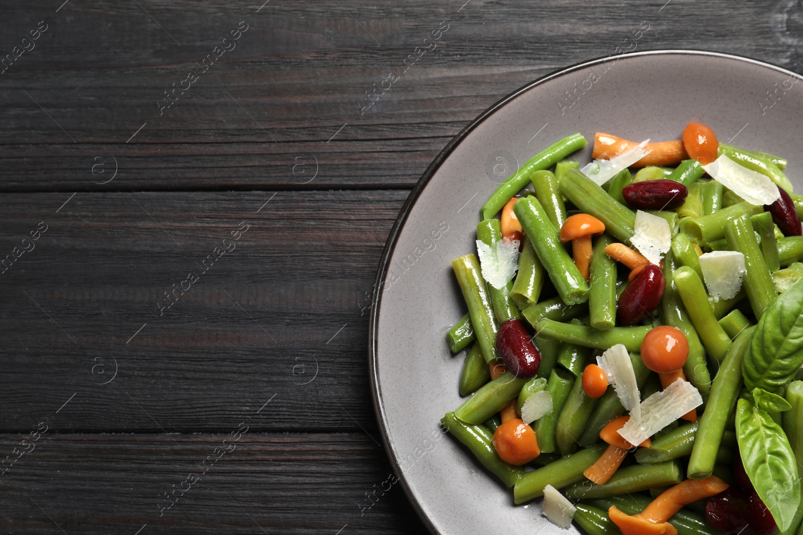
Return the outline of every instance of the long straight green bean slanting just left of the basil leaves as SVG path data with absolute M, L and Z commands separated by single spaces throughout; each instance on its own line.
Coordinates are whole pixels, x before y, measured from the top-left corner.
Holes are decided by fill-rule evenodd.
M 705 479 L 714 471 L 725 425 L 736 407 L 736 398 L 742 386 L 742 359 L 750 345 L 753 330 L 755 327 L 748 327 L 736 337 L 711 384 L 711 394 L 699 419 L 695 445 L 691 450 L 688 469 L 691 479 Z

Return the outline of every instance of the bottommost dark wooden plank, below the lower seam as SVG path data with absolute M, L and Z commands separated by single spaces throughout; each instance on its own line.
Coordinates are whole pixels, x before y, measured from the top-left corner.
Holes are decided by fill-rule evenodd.
M 385 453 L 365 435 L 241 429 L 233 423 L 225 434 L 172 437 L 52 429 L 35 435 L 39 440 L 2 435 L 0 452 L 14 461 L 6 460 L 0 475 L 0 526 L 4 533 L 132 535 L 334 535 L 344 525 L 343 533 L 424 532 L 393 484 Z

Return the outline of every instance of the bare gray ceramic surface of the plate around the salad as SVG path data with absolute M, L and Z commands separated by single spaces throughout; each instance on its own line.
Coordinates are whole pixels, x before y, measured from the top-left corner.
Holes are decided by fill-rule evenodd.
M 438 155 L 385 246 L 369 341 L 385 447 L 433 533 L 567 533 L 540 516 L 539 501 L 514 507 L 512 490 L 438 428 L 442 415 L 461 403 L 464 355 L 450 355 L 444 335 L 466 307 L 450 261 L 475 253 L 479 207 L 499 182 L 517 163 L 573 132 L 589 140 L 574 156 L 585 162 L 594 132 L 670 140 L 697 120 L 720 141 L 789 158 L 786 172 L 799 186 L 803 83 L 797 82 L 784 69 L 710 52 L 597 59 L 507 96 Z

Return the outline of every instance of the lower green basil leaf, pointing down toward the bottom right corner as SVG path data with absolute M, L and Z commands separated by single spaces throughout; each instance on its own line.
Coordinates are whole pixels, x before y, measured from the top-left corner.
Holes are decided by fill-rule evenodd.
M 792 525 L 801 501 L 797 460 L 781 426 L 747 399 L 736 404 L 736 440 L 750 482 L 778 529 Z

